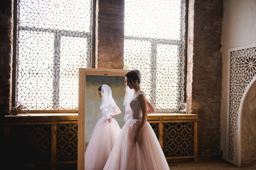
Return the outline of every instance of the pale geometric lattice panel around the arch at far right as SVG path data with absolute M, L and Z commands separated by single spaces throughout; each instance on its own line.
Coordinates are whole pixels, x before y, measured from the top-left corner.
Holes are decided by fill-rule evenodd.
M 256 47 L 230 51 L 229 68 L 229 118 L 227 158 L 238 161 L 238 112 L 247 85 L 256 76 Z

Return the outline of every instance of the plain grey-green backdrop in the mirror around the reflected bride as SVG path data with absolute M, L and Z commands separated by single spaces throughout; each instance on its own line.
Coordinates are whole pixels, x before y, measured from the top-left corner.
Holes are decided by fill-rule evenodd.
M 124 77 L 123 76 L 94 76 L 86 75 L 85 85 L 85 149 L 88 145 L 92 131 L 101 118 L 101 100 L 98 88 L 106 84 L 112 90 L 112 96 L 121 110 L 121 114 L 115 116 L 120 128 L 124 126 Z M 86 159 L 86 158 L 85 158 Z

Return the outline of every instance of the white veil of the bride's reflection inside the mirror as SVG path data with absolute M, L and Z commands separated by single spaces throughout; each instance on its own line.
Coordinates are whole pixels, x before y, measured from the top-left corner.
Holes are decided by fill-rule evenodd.
M 107 121 L 115 113 L 117 109 L 115 107 L 115 100 L 112 97 L 111 88 L 108 85 L 101 86 L 101 116 Z

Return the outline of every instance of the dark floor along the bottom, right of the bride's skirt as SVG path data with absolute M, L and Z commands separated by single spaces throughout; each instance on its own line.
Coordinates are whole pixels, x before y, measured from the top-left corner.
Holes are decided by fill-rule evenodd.
M 225 160 L 200 160 L 198 162 L 171 162 L 170 170 L 256 170 L 256 162 L 245 163 L 241 167 Z

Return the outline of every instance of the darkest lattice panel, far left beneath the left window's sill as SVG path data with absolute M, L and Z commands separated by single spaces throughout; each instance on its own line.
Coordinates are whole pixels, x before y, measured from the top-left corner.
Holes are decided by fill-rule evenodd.
M 51 161 L 50 130 L 49 124 L 10 126 L 7 147 L 17 158 L 16 165 Z

